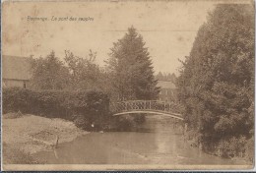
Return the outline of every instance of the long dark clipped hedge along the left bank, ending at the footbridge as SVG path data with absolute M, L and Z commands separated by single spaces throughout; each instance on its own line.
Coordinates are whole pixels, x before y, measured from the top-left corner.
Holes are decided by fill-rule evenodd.
M 96 90 L 3 89 L 3 113 L 21 111 L 48 118 L 63 118 L 75 121 L 84 129 L 103 128 L 109 118 L 108 104 L 107 95 Z

